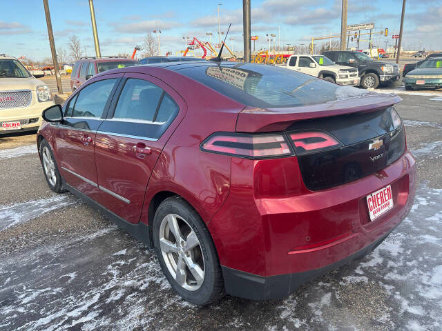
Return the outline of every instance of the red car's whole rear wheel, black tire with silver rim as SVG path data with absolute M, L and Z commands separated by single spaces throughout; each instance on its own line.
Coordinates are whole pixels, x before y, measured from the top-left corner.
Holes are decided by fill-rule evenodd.
M 207 305 L 224 295 L 220 262 L 209 230 L 182 197 L 169 197 L 158 207 L 153 243 L 166 279 L 184 300 Z M 186 249 L 189 245 L 194 247 Z

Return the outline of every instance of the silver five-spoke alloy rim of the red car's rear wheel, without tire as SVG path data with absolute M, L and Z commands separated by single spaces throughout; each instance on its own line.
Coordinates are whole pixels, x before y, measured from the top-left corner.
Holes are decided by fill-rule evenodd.
M 182 217 L 167 214 L 160 225 L 160 250 L 175 281 L 185 290 L 198 290 L 204 282 L 204 257 L 197 235 Z

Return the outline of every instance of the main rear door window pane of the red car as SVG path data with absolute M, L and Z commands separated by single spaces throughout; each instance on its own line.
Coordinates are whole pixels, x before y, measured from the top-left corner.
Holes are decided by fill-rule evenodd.
M 113 117 L 153 121 L 163 90 L 144 79 L 126 81 Z

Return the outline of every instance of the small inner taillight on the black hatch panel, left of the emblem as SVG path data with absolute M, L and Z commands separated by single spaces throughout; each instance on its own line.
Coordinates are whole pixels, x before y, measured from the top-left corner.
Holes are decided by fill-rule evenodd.
M 291 132 L 289 137 L 295 146 L 296 155 L 320 152 L 321 150 L 343 146 L 343 143 L 338 141 L 338 139 L 321 131 Z

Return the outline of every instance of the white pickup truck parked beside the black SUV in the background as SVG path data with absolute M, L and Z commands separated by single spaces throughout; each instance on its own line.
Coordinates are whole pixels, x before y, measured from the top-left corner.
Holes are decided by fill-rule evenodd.
M 287 59 L 286 67 L 339 85 L 359 86 L 361 81 L 358 69 L 338 66 L 324 55 L 294 54 Z

